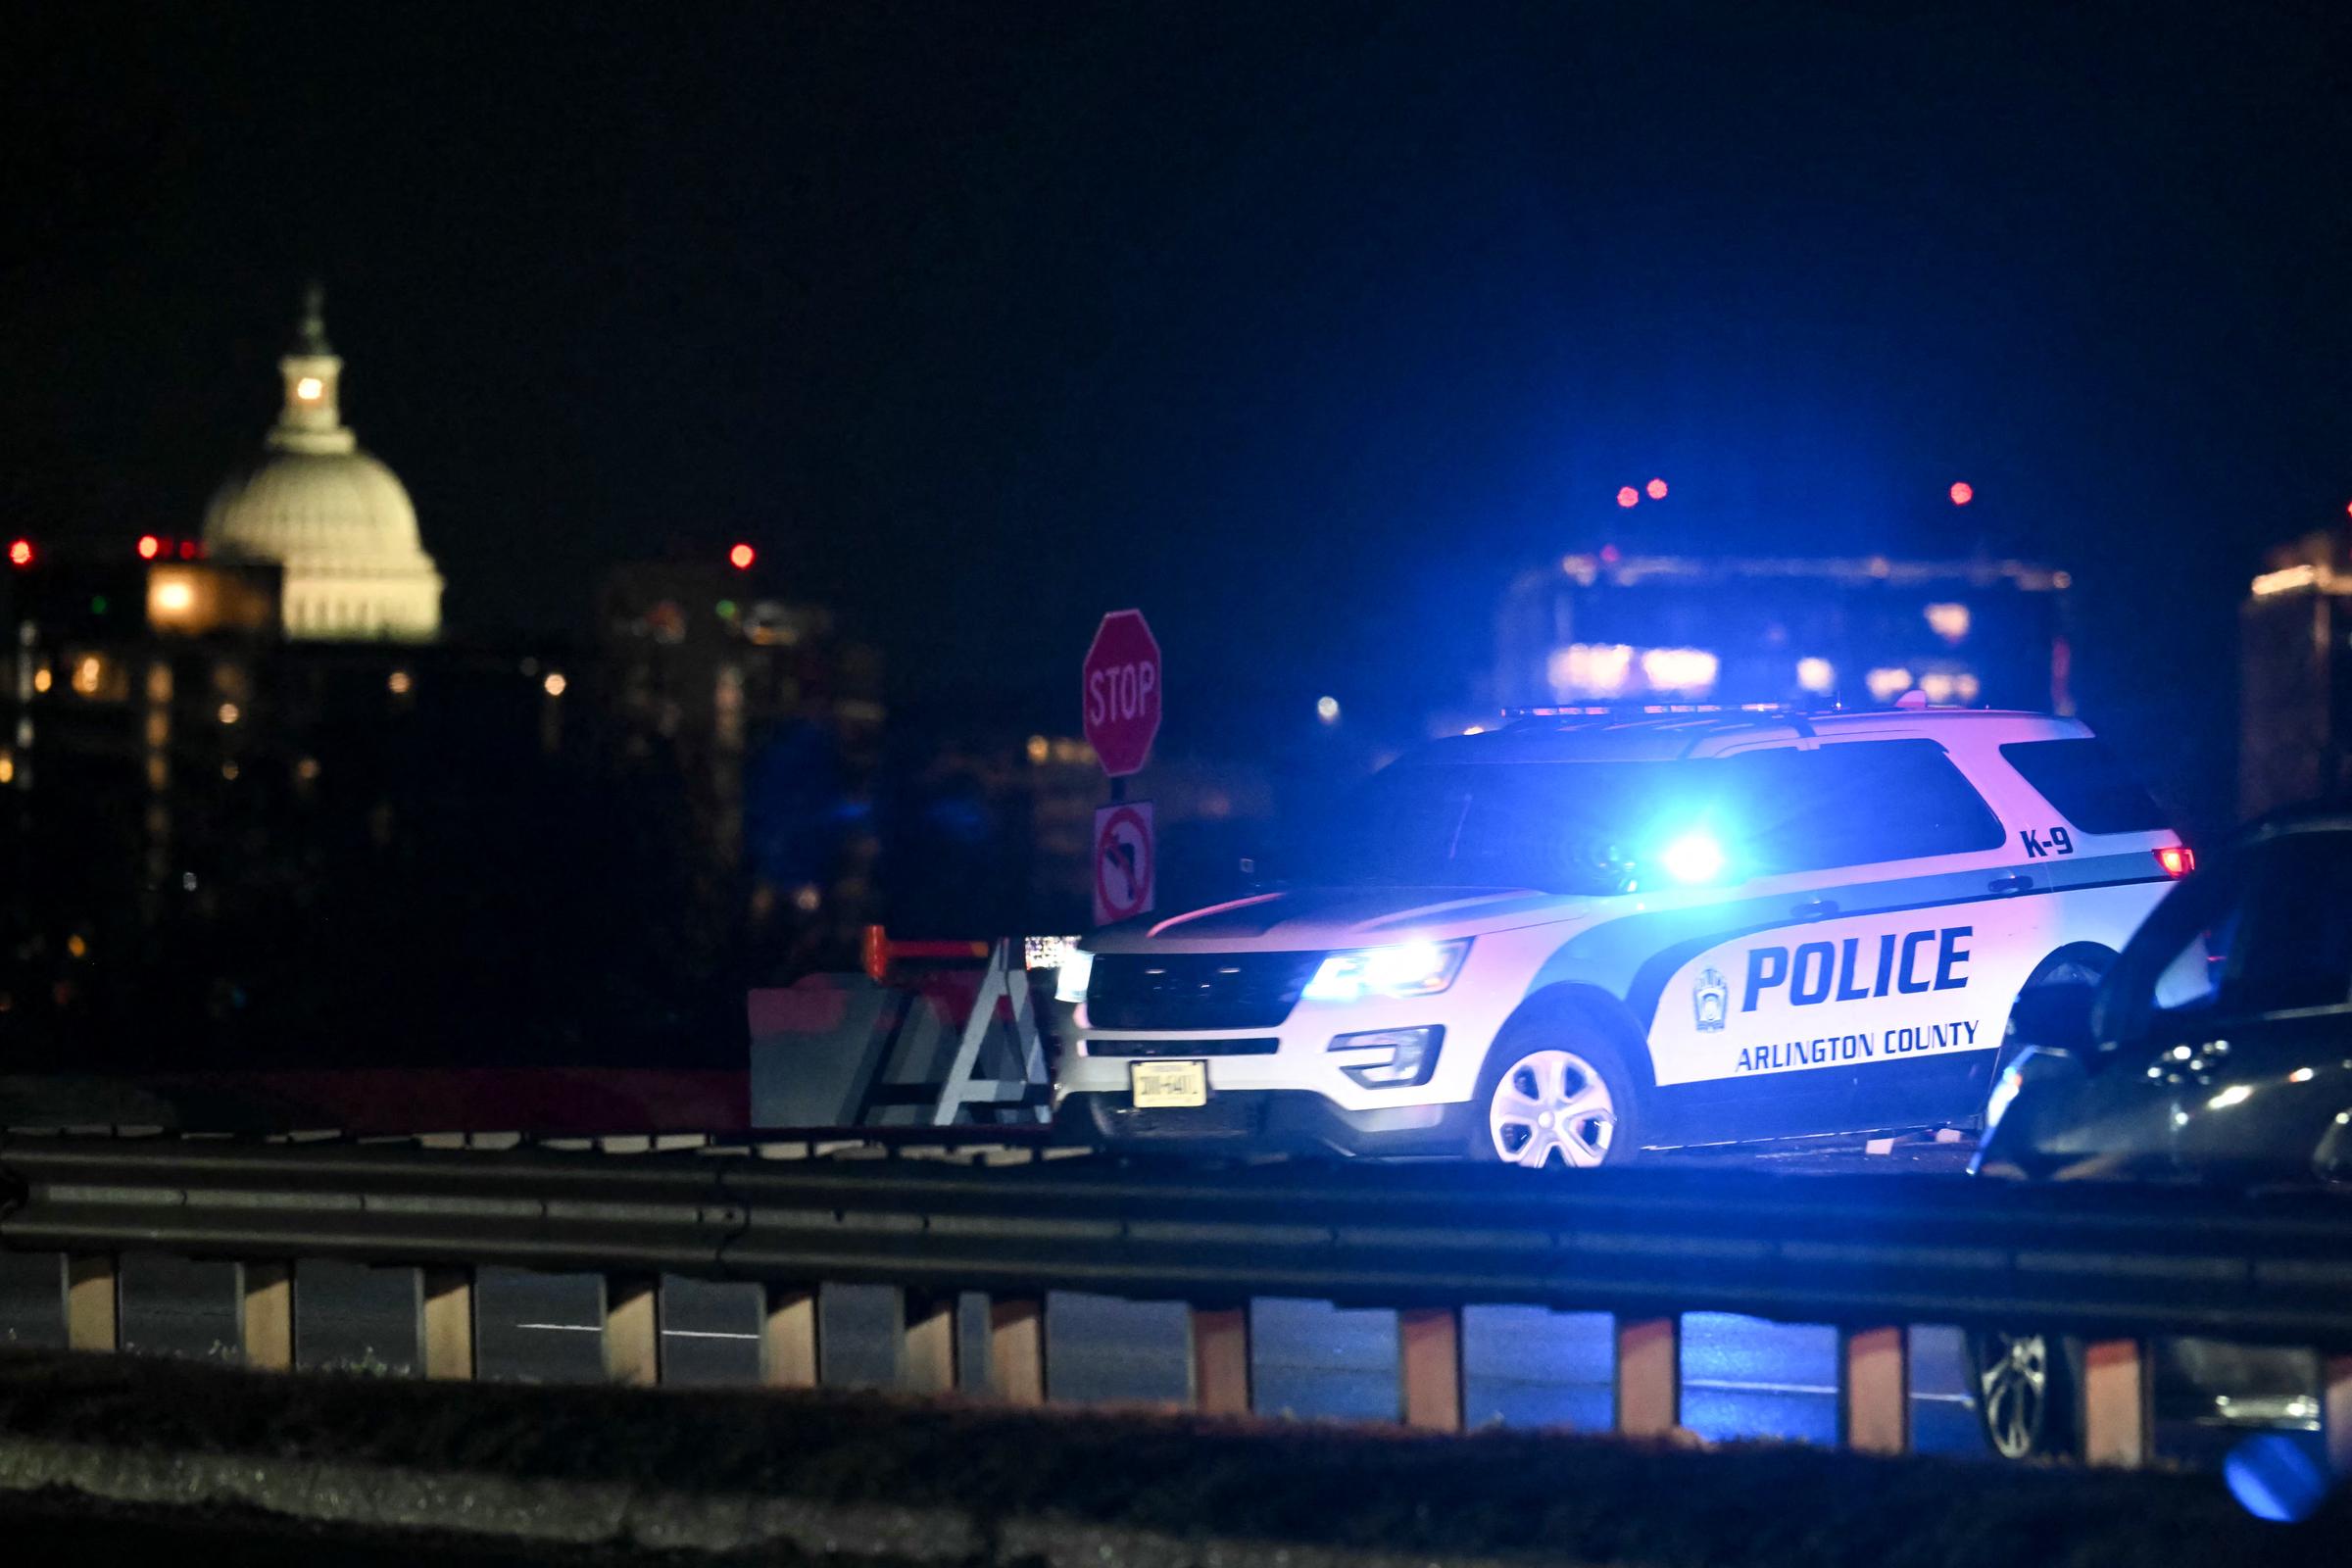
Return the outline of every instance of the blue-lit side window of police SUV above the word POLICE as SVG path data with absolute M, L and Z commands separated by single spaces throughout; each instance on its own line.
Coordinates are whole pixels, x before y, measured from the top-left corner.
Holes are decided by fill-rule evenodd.
M 1726 757 L 1748 856 L 1771 872 L 1999 849 L 1999 818 L 1933 741 Z

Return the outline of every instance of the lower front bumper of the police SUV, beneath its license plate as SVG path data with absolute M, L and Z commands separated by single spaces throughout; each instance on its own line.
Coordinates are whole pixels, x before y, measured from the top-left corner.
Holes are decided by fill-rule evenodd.
M 1054 1128 L 1073 1143 L 1169 1154 L 1463 1154 L 1472 1110 L 1345 1110 L 1310 1088 L 1218 1091 L 1197 1107 L 1136 1110 L 1127 1091 L 1082 1091 L 1061 1098 Z

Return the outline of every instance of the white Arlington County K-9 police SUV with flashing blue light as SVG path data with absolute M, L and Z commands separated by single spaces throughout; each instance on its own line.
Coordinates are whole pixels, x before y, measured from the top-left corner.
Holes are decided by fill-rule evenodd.
M 1522 1166 L 1962 1121 L 2187 865 L 2072 719 L 1526 717 L 1383 769 L 1296 886 L 1091 936 L 1056 1121 Z

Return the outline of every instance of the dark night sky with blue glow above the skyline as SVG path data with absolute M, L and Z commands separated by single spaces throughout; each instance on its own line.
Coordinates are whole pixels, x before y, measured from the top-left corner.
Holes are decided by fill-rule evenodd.
M 1143 604 L 1183 745 L 1406 731 L 1564 548 L 1985 545 L 2213 811 L 2234 597 L 2352 498 L 2328 5 L 52 9 L 12 527 L 193 531 L 315 273 L 482 632 L 750 538 L 1016 722 Z

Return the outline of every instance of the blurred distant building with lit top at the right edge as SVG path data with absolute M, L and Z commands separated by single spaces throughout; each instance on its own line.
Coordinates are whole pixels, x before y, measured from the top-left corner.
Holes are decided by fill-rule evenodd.
M 2272 550 L 2237 625 L 2239 813 L 2352 790 L 2352 538 Z

